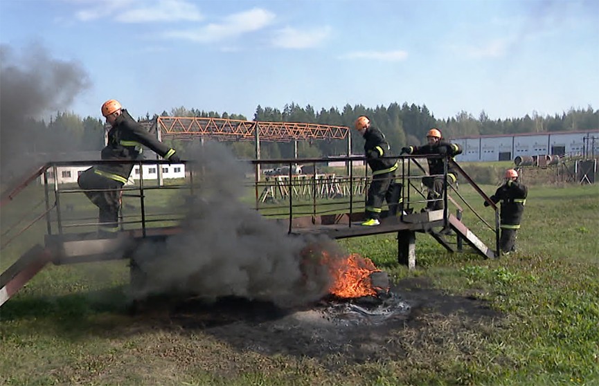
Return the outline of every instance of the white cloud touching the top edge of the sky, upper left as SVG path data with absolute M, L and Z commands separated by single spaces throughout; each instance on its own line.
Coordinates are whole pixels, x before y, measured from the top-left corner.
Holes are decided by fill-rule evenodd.
M 120 23 L 150 23 L 154 21 L 198 21 L 203 19 L 194 3 L 186 0 L 104 0 L 72 1 L 75 4 L 93 4 L 75 12 L 81 21 L 114 17 Z

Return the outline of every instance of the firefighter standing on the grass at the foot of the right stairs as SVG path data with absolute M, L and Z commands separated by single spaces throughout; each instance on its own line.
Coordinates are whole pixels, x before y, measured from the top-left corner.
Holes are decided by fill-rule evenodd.
M 516 232 L 520 229 L 520 221 L 524 213 L 524 205 L 528 196 L 528 188 L 518 181 L 518 172 L 514 169 L 506 171 L 506 183 L 497 188 L 495 194 L 490 196 L 493 203 L 499 203 L 499 248 L 504 253 L 516 251 Z M 490 204 L 485 201 L 485 206 Z

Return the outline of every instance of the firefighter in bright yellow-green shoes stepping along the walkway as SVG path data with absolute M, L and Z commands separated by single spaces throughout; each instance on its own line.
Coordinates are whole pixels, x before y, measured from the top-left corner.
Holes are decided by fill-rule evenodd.
M 383 200 L 387 201 L 389 214 L 395 215 L 398 210 L 401 210 L 402 185 L 394 181 L 397 160 L 382 158 L 390 155 L 391 147 L 389 147 L 384 134 L 370 125 L 368 117 L 360 116 L 356 120 L 355 128 L 366 140 L 364 154 L 366 154 L 366 162 L 373 172 L 373 181 L 368 187 L 368 198 L 366 199 L 366 221 L 362 225 L 377 226 L 380 224 Z

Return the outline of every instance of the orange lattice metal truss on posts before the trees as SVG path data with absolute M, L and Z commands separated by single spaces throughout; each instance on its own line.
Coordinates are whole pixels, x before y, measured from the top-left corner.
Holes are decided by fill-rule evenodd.
M 158 117 L 156 124 L 163 138 L 177 139 L 209 137 L 220 140 L 256 140 L 256 129 L 261 141 L 271 142 L 345 139 L 349 133 L 346 126 L 225 118 Z

